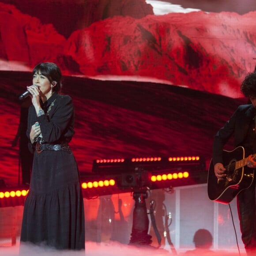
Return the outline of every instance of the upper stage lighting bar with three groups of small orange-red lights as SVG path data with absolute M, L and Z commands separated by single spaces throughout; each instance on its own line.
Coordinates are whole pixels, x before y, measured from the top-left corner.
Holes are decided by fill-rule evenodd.
M 93 173 L 118 174 L 138 170 L 205 169 L 205 159 L 197 155 L 172 157 L 103 158 L 93 162 Z

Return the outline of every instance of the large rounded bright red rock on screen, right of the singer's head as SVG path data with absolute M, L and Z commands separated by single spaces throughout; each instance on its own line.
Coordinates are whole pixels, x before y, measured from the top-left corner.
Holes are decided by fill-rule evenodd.
M 241 79 L 254 70 L 255 18 L 256 12 L 114 17 L 74 32 L 65 54 L 85 75 L 154 77 L 237 97 Z

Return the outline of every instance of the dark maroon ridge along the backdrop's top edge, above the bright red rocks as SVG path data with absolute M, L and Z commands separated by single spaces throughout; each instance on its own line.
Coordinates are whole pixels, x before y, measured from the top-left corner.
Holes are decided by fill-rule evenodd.
M 37 17 L 43 24 L 51 23 L 66 38 L 78 29 L 113 16 L 141 19 L 154 14 L 145 0 L 0 0 Z

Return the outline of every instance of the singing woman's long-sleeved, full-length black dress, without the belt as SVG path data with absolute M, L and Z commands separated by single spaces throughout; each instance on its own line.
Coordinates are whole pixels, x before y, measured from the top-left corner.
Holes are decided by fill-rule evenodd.
M 42 108 L 45 115 L 37 117 L 34 106 L 30 106 L 27 136 L 38 121 L 41 128 L 38 140 L 42 144 L 70 142 L 74 135 L 72 98 L 54 93 L 42 103 Z M 84 250 L 83 195 L 72 152 L 34 152 L 20 240 L 56 249 Z

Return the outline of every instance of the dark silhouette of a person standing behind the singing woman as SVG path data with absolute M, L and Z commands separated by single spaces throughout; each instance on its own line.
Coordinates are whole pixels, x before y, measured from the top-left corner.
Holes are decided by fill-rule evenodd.
M 33 154 L 29 150 L 29 139 L 26 136 L 28 109 L 30 105 L 31 100 L 29 97 L 24 99 L 20 104 L 19 127 L 15 139 L 11 144 L 12 147 L 15 147 L 19 140 L 19 170 L 21 169 L 23 186 L 29 186 L 30 184 L 30 173 L 33 163 Z M 20 172 L 18 180 L 20 185 Z

